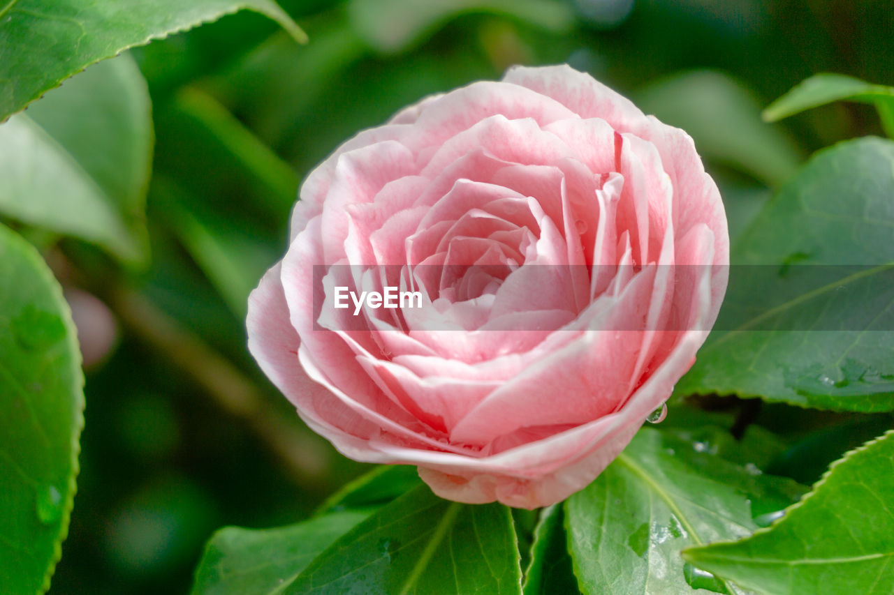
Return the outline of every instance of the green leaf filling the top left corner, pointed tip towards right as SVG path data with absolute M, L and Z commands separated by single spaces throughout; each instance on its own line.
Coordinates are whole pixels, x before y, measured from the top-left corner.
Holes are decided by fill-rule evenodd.
M 305 40 L 273 0 L 6 0 L 0 5 L 0 122 L 92 63 L 241 9 L 266 14 Z

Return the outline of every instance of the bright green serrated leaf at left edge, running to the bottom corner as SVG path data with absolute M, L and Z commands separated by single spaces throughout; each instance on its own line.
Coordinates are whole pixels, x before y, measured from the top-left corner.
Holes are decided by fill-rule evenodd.
M 83 374 L 72 314 L 37 250 L 0 225 L 0 585 L 43 592 L 78 474 Z

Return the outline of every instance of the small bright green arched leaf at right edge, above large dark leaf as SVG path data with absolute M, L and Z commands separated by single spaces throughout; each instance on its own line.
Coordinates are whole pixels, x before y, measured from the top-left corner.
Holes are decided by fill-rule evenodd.
M 821 72 L 801 81 L 763 110 L 763 119 L 767 122 L 776 122 L 834 101 L 856 101 L 875 105 L 885 133 L 894 138 L 894 87 L 873 85 L 843 74 Z

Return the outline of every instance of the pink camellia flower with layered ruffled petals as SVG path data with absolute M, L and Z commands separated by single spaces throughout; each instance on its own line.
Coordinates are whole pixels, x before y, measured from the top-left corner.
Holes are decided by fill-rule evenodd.
M 540 507 L 670 397 L 727 264 L 685 132 L 568 66 L 513 68 L 310 173 L 249 298 L 249 348 L 348 457 L 417 465 L 444 498 Z

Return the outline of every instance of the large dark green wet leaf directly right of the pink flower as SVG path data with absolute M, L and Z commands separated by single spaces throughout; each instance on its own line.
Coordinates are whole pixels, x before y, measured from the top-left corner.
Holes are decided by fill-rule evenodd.
M 894 142 L 861 138 L 772 198 L 731 251 L 721 314 L 678 394 L 894 408 L 892 171 Z

